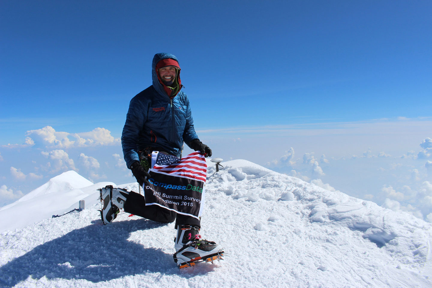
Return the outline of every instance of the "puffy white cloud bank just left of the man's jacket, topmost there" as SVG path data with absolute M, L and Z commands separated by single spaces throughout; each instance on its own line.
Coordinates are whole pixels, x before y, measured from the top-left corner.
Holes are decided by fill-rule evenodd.
M 90 147 L 105 145 L 120 145 L 119 138 L 111 136 L 105 128 L 95 128 L 91 132 L 68 133 L 45 126 L 37 130 L 29 130 L 25 142 L 28 145 L 39 145 L 52 148 Z

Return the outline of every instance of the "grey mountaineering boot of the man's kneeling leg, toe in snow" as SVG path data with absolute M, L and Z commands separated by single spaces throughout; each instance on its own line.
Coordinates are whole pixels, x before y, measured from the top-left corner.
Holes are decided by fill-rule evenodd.
M 101 212 L 102 222 L 104 225 L 111 224 L 117 217 L 120 209 L 123 209 L 129 191 L 121 188 L 113 188 L 112 185 L 107 185 L 105 188 L 99 189 L 100 200 L 103 203 Z

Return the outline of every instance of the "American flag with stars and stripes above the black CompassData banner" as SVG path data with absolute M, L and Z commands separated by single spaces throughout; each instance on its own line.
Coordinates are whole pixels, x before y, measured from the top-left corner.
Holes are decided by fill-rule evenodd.
M 178 175 L 206 182 L 207 163 L 204 155 L 200 152 L 192 152 L 181 159 L 161 152 L 153 152 L 152 159 L 154 158 L 156 158 L 156 161 L 152 170 L 155 172 Z

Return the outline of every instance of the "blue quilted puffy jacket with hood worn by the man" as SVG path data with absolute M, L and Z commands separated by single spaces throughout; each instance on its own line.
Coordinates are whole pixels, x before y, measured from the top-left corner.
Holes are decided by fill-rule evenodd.
M 169 97 L 164 90 L 166 86 L 159 82 L 156 64 L 167 58 L 178 61 L 172 54 L 156 54 L 152 62 L 153 85 L 130 100 L 121 134 L 128 168 L 133 162 L 140 161 L 138 151 L 141 149 L 151 147 L 180 157 L 183 142 L 189 144 L 198 139 L 187 95 L 179 91 Z M 181 89 L 180 70 L 177 79 Z

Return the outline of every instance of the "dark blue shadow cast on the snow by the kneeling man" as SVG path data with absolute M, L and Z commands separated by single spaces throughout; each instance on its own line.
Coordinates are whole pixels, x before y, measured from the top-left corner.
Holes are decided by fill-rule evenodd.
M 134 231 L 166 224 L 146 219 L 114 222 L 106 226 L 99 224 L 100 221 L 92 223 L 41 244 L 0 267 L 0 285 L 14 286 L 29 275 L 33 279 L 46 276 L 48 279 L 100 282 L 143 272 L 178 274 L 172 254 L 127 241 Z M 206 270 L 195 270 L 193 274 L 209 272 Z

